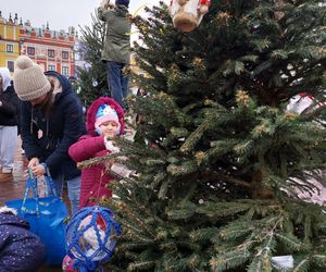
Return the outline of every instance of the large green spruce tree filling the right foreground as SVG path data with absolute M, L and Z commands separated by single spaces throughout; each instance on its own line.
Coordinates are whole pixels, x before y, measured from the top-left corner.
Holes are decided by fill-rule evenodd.
M 148 12 L 135 18 L 147 95 L 131 107 L 143 141 L 120 139 L 121 153 L 104 158 L 125 154 L 138 173 L 105 200 L 123 231 L 108 267 L 326 271 L 323 207 L 298 197 L 312 178 L 325 183 L 325 7 L 213 0 L 191 33 L 163 3 Z M 288 111 L 301 92 L 313 104 Z

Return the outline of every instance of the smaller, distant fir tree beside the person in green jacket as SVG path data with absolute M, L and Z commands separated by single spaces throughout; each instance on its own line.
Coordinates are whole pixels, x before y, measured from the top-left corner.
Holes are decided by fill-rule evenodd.
M 91 15 L 91 26 L 80 27 L 80 45 L 87 65 L 78 70 L 78 96 L 86 107 L 100 96 L 108 95 L 105 64 L 101 62 L 101 52 L 105 37 L 105 24 L 98 13 Z

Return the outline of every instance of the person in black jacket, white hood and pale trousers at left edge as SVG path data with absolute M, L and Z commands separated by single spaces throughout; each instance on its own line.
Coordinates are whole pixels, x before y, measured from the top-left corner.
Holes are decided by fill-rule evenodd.
M 8 67 L 0 67 L 0 181 L 12 177 L 17 145 L 20 99 L 11 86 Z

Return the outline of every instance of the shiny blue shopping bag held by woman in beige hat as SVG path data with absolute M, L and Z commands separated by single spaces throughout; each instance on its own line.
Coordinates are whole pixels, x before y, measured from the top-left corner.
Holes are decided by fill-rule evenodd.
M 55 191 L 52 178 L 47 180 L 50 190 Z M 7 201 L 5 205 L 17 209 L 18 217 L 27 221 L 30 231 L 40 237 L 46 246 L 46 263 L 61 265 L 65 256 L 65 219 L 68 211 L 58 194 L 39 197 L 37 183 L 37 178 L 29 174 L 24 198 Z M 30 191 L 33 197 L 28 198 Z

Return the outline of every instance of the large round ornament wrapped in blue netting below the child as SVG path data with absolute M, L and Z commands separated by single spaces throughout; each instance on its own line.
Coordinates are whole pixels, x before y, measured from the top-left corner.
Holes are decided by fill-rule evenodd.
M 120 234 L 121 226 L 110 209 L 95 206 L 79 210 L 66 227 L 67 255 L 74 259 L 72 269 L 96 271 L 100 261 L 110 259 Z

